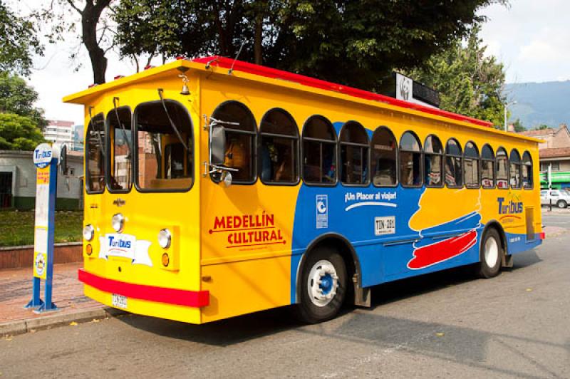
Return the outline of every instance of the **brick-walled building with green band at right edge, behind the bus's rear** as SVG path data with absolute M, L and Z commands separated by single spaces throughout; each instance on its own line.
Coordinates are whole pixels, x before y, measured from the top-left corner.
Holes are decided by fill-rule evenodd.
M 544 140 L 539 144 L 540 185 L 548 188 L 547 172 L 551 169 L 552 188 L 570 188 L 570 130 L 568 125 L 559 128 L 528 130 L 522 135 Z

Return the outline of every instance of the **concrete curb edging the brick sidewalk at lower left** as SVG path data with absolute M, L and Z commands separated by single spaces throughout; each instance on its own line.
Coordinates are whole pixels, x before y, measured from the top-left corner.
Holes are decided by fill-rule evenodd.
M 0 323 L 0 338 L 16 336 L 30 331 L 42 331 L 56 326 L 66 325 L 71 322 L 83 323 L 93 319 L 108 318 L 125 313 L 115 308 L 85 309 L 73 313 L 54 314 L 28 320 L 8 321 Z

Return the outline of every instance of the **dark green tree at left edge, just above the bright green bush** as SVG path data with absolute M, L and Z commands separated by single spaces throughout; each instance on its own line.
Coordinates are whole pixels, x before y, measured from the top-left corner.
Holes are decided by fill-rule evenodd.
M 33 106 L 38 93 L 24 79 L 10 73 L 0 72 L 0 113 L 15 113 L 32 120 L 37 128 L 46 126 L 43 110 Z

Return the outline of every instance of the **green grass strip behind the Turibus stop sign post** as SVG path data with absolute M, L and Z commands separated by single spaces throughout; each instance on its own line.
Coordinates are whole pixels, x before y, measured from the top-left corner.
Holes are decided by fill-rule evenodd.
M 0 212 L 0 246 L 33 245 L 35 213 Z M 56 242 L 81 241 L 83 211 L 56 212 Z

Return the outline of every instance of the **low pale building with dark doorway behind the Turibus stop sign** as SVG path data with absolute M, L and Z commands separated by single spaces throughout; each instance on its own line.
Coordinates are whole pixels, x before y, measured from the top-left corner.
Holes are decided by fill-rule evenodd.
M 33 209 L 36 166 L 33 152 L 0 150 L 0 209 Z M 83 154 L 68 152 L 68 175 L 58 175 L 56 209 L 83 207 Z

